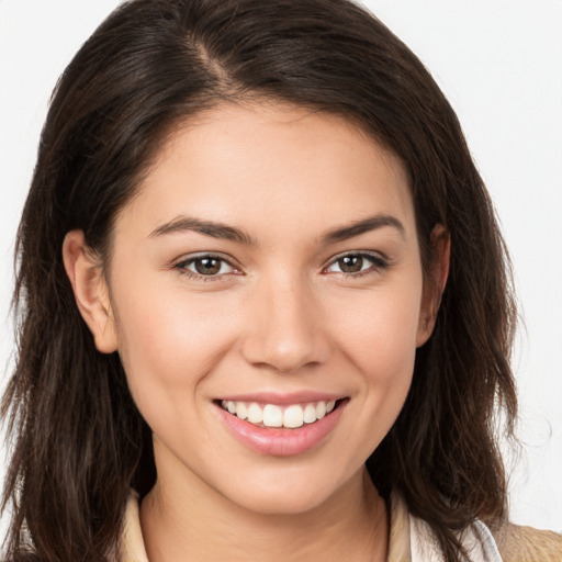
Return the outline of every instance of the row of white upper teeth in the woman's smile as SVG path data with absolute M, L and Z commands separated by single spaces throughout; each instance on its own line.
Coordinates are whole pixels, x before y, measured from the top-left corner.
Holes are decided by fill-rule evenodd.
M 250 424 L 293 429 L 322 419 L 335 408 L 336 401 L 319 401 L 315 404 L 306 404 L 304 408 L 300 404 L 292 404 L 284 409 L 274 404 L 266 404 L 261 407 L 256 403 L 247 404 L 233 401 L 223 401 L 221 405 L 223 409 L 240 419 L 247 419 Z

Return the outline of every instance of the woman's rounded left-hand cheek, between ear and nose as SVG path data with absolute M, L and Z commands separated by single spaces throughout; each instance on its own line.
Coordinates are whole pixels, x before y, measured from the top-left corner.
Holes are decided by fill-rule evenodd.
M 126 294 L 115 295 L 119 352 L 135 402 L 166 409 L 181 395 L 184 403 L 232 345 L 229 317 L 221 316 L 220 299 L 123 286 Z

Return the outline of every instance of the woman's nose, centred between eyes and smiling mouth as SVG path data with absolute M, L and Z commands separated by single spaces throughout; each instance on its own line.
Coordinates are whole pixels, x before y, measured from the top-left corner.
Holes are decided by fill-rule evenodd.
M 327 360 L 330 345 L 322 306 L 303 284 L 277 280 L 255 292 L 248 303 L 250 329 L 243 342 L 246 361 L 290 373 Z

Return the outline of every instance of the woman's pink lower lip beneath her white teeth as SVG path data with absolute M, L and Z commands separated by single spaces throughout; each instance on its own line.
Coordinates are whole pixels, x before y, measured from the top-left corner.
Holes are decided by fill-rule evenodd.
M 317 447 L 335 428 L 347 401 L 314 424 L 305 424 L 295 429 L 267 428 L 256 426 L 216 406 L 231 432 L 246 447 L 274 457 L 302 454 Z

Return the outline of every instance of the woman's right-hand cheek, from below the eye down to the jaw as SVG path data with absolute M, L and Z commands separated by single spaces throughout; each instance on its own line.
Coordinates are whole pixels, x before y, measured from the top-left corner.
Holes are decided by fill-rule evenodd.
M 404 405 L 414 372 L 419 300 L 417 285 L 358 293 L 333 316 L 357 428 L 340 450 L 351 459 L 350 470 L 379 447 Z

